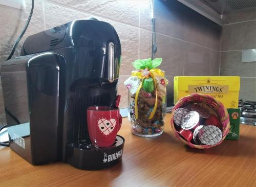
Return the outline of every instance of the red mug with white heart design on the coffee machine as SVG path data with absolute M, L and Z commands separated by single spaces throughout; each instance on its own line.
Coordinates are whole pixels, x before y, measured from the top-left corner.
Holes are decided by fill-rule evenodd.
M 122 116 L 116 106 L 90 106 L 87 109 L 89 136 L 95 146 L 112 146 L 121 125 Z

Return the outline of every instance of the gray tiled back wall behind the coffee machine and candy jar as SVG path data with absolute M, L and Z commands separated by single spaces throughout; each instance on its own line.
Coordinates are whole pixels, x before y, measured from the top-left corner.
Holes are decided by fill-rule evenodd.
M 8 57 L 30 12 L 0 5 L 0 64 Z M 173 77 L 182 75 L 219 75 L 221 27 L 190 10 L 176 0 L 155 0 L 156 40 L 162 57 L 160 68 L 171 82 L 168 103 L 173 103 Z M 18 56 L 24 39 L 34 33 L 65 24 L 74 19 L 96 17 L 110 22 L 122 44 L 122 65 L 118 92 L 120 107 L 127 106 L 123 81 L 129 77 L 136 59 L 151 57 L 150 0 L 35 0 L 32 20 L 14 56 Z M 4 103 L 0 83 L 0 124 L 4 123 Z

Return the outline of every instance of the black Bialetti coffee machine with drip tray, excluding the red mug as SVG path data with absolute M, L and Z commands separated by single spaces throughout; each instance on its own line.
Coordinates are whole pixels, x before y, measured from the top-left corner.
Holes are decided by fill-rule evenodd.
M 75 20 L 29 36 L 1 67 L 10 147 L 33 165 L 64 161 L 80 169 L 114 165 L 124 139 L 90 144 L 86 109 L 114 105 L 121 59 L 112 25 Z

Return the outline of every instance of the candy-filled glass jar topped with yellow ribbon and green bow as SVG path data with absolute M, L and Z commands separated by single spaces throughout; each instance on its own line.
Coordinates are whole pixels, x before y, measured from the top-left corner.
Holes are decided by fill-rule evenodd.
M 129 121 L 133 134 L 139 136 L 160 135 L 163 132 L 166 85 L 164 71 L 158 69 L 162 59 L 136 60 L 132 76 L 124 84 L 129 89 Z M 137 126 L 141 128 L 138 129 Z

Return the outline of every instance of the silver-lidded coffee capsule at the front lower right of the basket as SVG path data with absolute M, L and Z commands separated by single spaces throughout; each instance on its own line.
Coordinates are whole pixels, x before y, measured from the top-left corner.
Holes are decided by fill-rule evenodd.
M 212 146 L 221 141 L 222 132 L 213 125 L 203 126 L 198 132 L 198 139 L 202 144 Z

